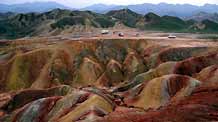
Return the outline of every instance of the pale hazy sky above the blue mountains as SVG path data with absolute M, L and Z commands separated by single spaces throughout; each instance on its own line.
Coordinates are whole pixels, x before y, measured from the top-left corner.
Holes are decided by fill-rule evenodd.
M 73 8 L 81 8 L 96 3 L 119 4 L 119 5 L 140 4 L 140 3 L 160 3 L 160 2 L 173 3 L 173 4 L 189 3 L 194 5 L 203 5 L 205 3 L 218 4 L 218 0 L 0 0 L 0 3 L 14 4 L 14 3 L 24 3 L 24 2 L 34 2 L 34 1 L 55 1 Z

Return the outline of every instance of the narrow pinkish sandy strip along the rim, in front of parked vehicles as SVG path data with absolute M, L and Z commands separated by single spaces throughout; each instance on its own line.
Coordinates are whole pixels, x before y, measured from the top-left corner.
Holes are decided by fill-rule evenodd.
M 146 40 L 149 43 L 159 44 L 163 46 L 171 47 L 216 47 L 218 46 L 218 41 L 206 40 L 206 39 L 188 39 L 188 38 L 176 38 L 169 39 L 167 37 L 118 37 L 118 36 L 103 36 L 103 37 L 81 37 L 81 38 L 70 38 L 70 37 L 35 37 L 35 38 L 25 38 L 19 39 L 17 41 L 11 41 L 17 43 L 16 45 L 25 44 L 37 44 L 40 45 L 53 45 L 57 43 L 65 43 L 70 41 L 96 41 L 104 39 L 123 39 L 123 40 Z

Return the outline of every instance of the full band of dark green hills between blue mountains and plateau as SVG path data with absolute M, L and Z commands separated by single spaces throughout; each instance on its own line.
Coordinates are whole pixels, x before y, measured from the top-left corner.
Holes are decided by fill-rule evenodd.
M 218 24 L 208 19 L 198 22 L 169 15 L 159 16 L 151 12 L 142 15 L 130 9 L 113 10 L 106 14 L 54 9 L 44 13 L 0 15 L 0 38 L 72 34 L 82 29 L 89 31 L 117 24 L 152 31 L 218 33 Z

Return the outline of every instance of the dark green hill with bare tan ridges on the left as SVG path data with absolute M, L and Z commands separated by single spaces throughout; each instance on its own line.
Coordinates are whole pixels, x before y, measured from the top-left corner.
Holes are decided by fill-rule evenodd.
M 114 26 L 115 22 L 108 16 L 90 11 L 70 11 L 54 9 L 38 14 L 17 14 L 0 20 L 0 38 L 20 38 L 32 36 L 43 27 L 46 32 L 54 29 L 64 30 L 67 26 L 81 25 L 97 28 Z M 49 26 L 48 26 L 49 25 Z

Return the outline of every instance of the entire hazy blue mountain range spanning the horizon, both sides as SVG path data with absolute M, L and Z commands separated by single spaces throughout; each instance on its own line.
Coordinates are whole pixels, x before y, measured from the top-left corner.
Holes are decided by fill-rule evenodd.
M 70 7 L 66 7 L 62 4 L 58 4 L 56 2 L 33 2 L 33 3 L 23 3 L 23 4 L 13 4 L 13 5 L 0 4 L 0 13 L 48 12 L 56 8 L 70 9 L 70 10 L 73 9 Z M 144 3 L 144 4 L 127 5 L 127 6 L 94 4 L 77 10 L 82 10 L 82 11 L 90 10 L 93 12 L 105 14 L 112 10 L 120 10 L 126 8 L 142 15 L 152 12 L 159 16 L 169 15 L 169 16 L 180 17 L 182 19 L 191 17 L 200 12 L 205 12 L 209 14 L 218 13 L 218 5 L 215 4 L 205 4 L 203 6 L 195 6 L 191 4 L 167 4 L 167 3 L 159 3 L 159 4 Z

